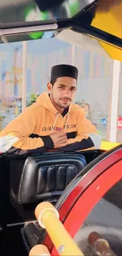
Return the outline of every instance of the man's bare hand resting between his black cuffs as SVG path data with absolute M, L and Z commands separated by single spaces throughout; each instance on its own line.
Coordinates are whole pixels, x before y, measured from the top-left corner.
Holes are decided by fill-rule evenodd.
M 53 140 L 54 149 L 68 145 L 66 132 L 54 132 L 50 135 L 50 138 Z

